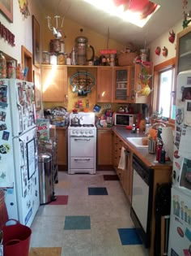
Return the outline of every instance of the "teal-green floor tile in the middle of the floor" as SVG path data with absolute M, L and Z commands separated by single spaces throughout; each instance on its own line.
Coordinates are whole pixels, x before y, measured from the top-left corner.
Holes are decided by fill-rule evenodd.
M 90 216 L 66 216 L 64 229 L 91 229 Z

